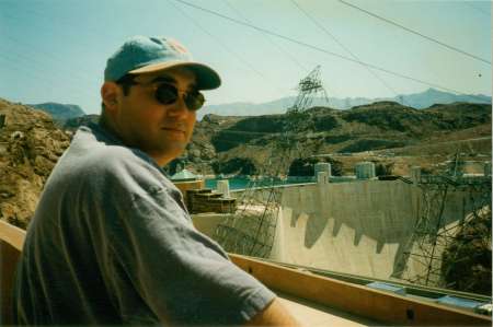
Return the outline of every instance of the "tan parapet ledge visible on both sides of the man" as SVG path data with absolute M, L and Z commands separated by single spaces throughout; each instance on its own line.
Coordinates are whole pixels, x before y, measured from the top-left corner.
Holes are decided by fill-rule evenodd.
M 1 325 L 9 325 L 12 322 L 10 316 L 12 282 L 24 237 L 25 232 L 23 230 L 0 221 Z M 409 299 L 251 257 L 231 254 L 230 258 L 238 267 L 273 290 L 377 322 L 420 326 L 491 326 L 492 324 L 489 316 Z

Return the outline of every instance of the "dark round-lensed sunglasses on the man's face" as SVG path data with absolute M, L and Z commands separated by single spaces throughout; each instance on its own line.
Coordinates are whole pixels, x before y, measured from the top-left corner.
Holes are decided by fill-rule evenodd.
M 146 85 L 136 81 L 134 81 L 133 84 Z M 180 92 L 176 86 L 172 84 L 160 83 L 154 86 L 154 97 L 159 103 L 168 106 L 174 104 L 179 100 Z M 196 112 L 204 105 L 205 97 L 204 94 L 202 94 L 197 90 L 193 90 L 183 93 L 183 102 L 185 103 L 188 110 Z

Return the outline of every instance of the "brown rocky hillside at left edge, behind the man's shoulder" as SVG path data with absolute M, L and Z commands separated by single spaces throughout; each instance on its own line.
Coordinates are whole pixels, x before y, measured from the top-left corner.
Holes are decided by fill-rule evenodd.
M 33 107 L 0 98 L 0 219 L 20 227 L 37 200 L 70 135 Z

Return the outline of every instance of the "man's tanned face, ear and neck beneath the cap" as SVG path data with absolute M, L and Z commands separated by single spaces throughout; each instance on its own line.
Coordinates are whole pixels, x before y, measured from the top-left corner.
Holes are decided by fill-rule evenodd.
M 188 110 L 183 93 L 195 89 L 195 75 L 185 68 L 136 75 L 127 95 L 118 92 L 115 129 L 130 147 L 138 148 L 164 165 L 179 156 L 194 130 L 196 114 Z M 160 83 L 179 90 L 171 104 L 160 103 L 154 92 Z

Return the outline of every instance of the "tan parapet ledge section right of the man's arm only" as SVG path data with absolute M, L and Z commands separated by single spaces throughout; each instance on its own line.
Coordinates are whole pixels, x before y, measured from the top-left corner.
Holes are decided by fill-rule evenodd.
M 232 261 L 265 285 L 317 304 L 385 324 L 413 326 L 491 326 L 490 316 L 357 285 L 262 261 L 230 255 Z

